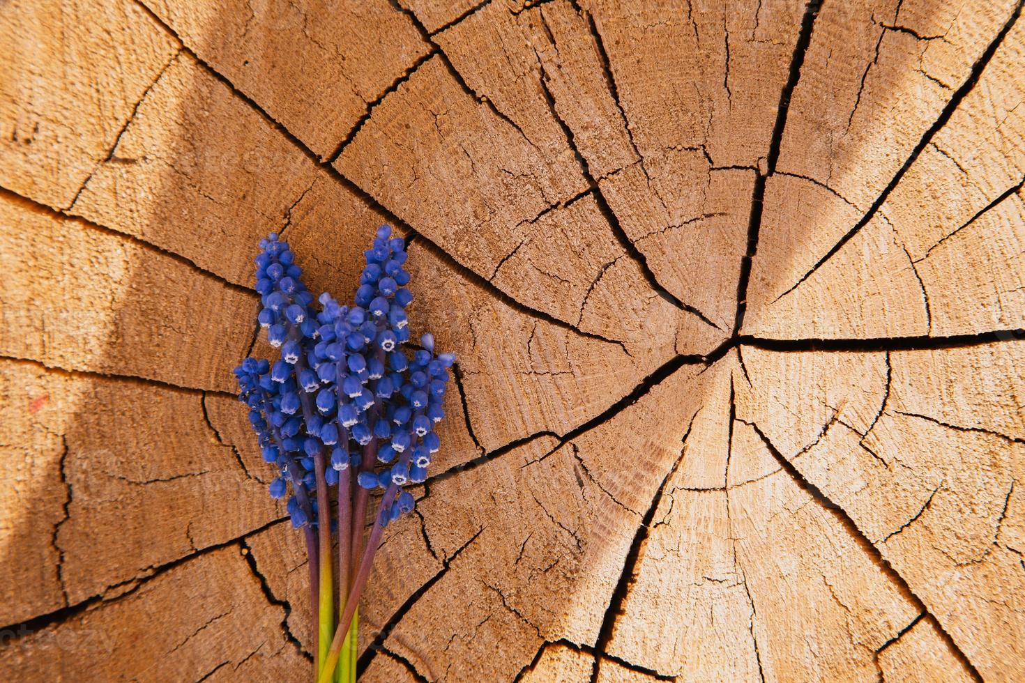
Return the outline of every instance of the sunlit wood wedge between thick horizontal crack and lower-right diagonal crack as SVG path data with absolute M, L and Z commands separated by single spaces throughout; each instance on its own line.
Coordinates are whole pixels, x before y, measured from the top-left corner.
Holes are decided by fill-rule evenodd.
M 738 402 L 994 678 L 1014 678 L 1022 660 L 1021 643 L 997 634 L 1025 628 L 1023 348 L 895 351 L 889 373 L 879 353 L 752 349 L 752 388 Z

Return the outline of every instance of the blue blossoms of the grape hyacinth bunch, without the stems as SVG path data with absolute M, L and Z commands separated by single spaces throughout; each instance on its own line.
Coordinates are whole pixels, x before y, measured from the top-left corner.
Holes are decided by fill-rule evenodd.
M 280 469 L 271 496 L 283 498 L 291 485 L 288 511 L 296 527 L 317 523 L 311 499 L 318 456 L 325 457 L 320 474 L 328 485 L 352 468 L 359 486 L 401 489 L 426 478 L 441 446 L 434 428 L 445 415 L 455 356 L 436 354 L 429 334 L 411 357 L 403 350 L 413 296 L 405 241 L 391 233 L 382 225 L 365 252 L 354 304 L 340 305 L 325 292 L 319 310 L 288 243 L 274 232 L 260 242 L 259 323 L 281 357 L 273 365 L 246 358 L 235 375 L 263 459 Z M 413 509 L 409 492 L 392 500 L 384 523 Z

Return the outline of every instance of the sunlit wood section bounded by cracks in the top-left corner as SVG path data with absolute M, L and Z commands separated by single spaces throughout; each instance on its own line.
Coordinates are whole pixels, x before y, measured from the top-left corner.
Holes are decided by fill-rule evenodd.
M 0 184 L 67 208 L 177 51 L 129 2 L 4 4 Z

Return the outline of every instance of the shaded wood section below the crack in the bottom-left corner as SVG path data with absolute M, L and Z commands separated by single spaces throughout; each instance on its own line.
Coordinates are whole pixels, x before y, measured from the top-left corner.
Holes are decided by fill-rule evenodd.
M 187 601 L 188 610 L 178 606 Z M 176 620 L 166 614 L 178 613 Z M 227 661 L 232 677 L 298 680 L 305 660 L 281 630 L 282 609 L 269 605 L 238 546 L 197 557 L 68 622 L 7 644 L 7 680 L 104 680 L 131 671 L 140 681 L 167 671 L 200 679 Z M 162 628 L 153 629 L 160 623 Z M 230 676 L 228 676 L 230 675 Z

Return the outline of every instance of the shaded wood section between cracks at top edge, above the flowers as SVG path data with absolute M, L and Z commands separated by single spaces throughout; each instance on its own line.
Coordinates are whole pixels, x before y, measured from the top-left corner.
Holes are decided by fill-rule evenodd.
M 321 159 L 429 50 L 383 0 L 142 2 Z

